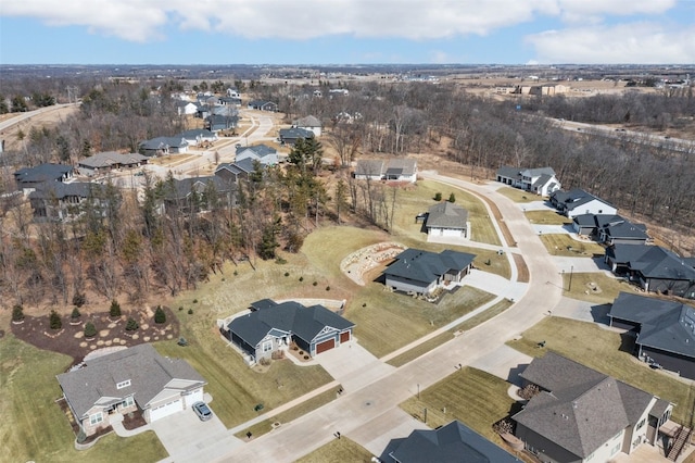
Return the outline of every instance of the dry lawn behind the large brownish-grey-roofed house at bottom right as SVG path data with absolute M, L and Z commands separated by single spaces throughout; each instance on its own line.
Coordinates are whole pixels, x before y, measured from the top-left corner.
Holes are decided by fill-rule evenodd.
M 507 345 L 528 355 L 541 356 L 545 350 L 539 349 L 538 343 L 542 340 L 546 349 L 675 403 L 673 420 L 686 422 L 692 410 L 688 386 L 640 362 L 630 353 L 634 342 L 631 338 L 623 340 L 620 334 L 593 323 L 548 316 L 526 330 L 521 339 Z

